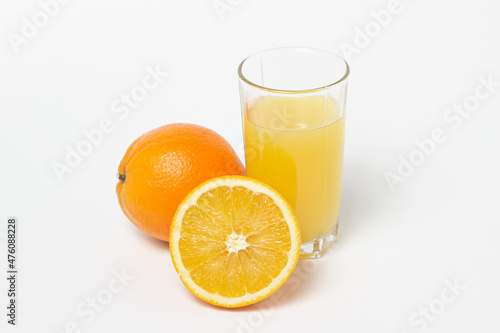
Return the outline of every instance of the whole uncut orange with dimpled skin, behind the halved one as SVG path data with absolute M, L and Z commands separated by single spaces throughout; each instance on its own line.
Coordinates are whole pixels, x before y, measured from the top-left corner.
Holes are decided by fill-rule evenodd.
M 116 193 L 125 215 L 148 235 L 168 242 L 175 211 L 192 189 L 215 177 L 244 176 L 245 168 L 214 131 L 170 124 L 135 140 L 118 173 Z

